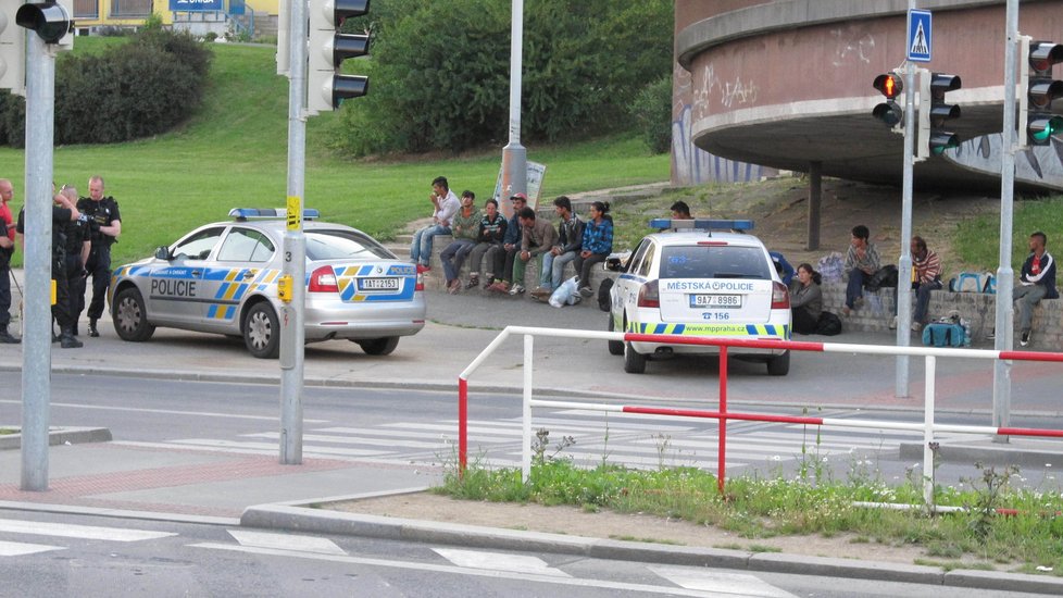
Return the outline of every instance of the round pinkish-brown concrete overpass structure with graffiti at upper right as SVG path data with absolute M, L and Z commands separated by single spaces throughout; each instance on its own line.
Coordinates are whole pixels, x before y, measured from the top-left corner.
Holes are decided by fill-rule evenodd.
M 933 61 L 920 66 L 963 82 L 948 95 L 963 144 L 916 163 L 915 186 L 998 195 L 1005 2 L 916 4 L 934 13 Z M 673 130 L 733 161 L 899 186 L 903 138 L 872 117 L 872 82 L 905 59 L 906 11 L 908 0 L 676 0 Z M 1023 1 L 1020 32 L 1063 42 L 1063 0 Z M 674 179 L 689 167 L 676 153 Z M 1063 190 L 1060 139 L 1015 161 L 1021 190 Z

